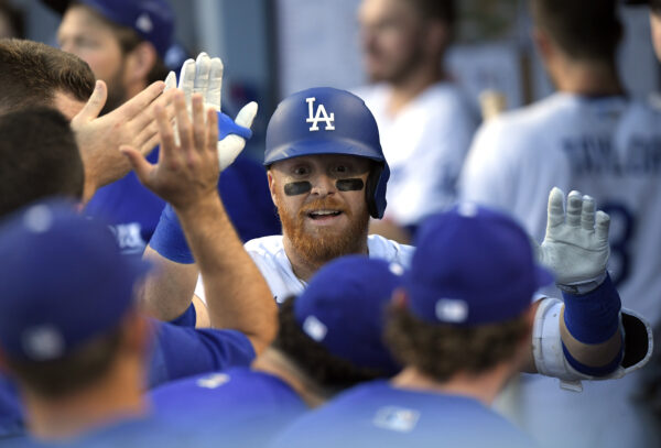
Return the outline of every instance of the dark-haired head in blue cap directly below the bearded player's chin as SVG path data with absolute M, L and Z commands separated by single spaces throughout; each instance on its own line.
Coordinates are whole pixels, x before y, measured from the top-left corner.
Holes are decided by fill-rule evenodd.
M 327 392 L 399 371 L 382 342 L 386 306 L 403 269 L 351 255 L 322 267 L 280 308 L 273 347 Z

